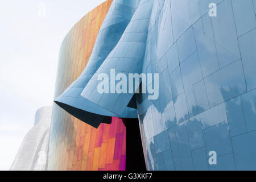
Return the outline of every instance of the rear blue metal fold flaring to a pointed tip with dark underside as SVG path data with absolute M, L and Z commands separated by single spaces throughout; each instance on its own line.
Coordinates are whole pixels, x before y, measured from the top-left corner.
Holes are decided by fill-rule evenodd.
M 56 104 L 68 113 L 96 128 L 102 122 L 110 123 L 111 117 L 138 118 L 137 110 L 132 107 L 126 107 L 122 113 L 114 114 L 108 107 L 101 107 L 101 105 L 80 95 L 106 57 L 117 46 L 137 9 L 138 3 L 139 1 L 114 1 L 112 3 L 98 32 L 92 55 L 90 55 L 84 71 L 61 96 L 55 99 Z

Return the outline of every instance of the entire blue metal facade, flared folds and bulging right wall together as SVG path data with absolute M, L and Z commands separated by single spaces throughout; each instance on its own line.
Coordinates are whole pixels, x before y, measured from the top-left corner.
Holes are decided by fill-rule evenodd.
M 107 16 L 106 24 L 122 21 L 120 13 L 129 12 L 125 26 L 107 32 L 101 27 L 105 33 L 99 34 L 88 67 L 57 104 L 65 110 L 61 104 L 75 107 L 76 117 L 81 110 L 89 112 L 82 121 L 94 127 L 109 117 L 132 118 L 138 112 L 149 170 L 256 169 L 256 2 L 214 1 L 217 16 L 209 14 L 211 3 L 114 0 L 110 10 L 121 12 Z M 157 73 L 158 99 L 148 100 L 147 93 L 99 94 L 98 75 L 110 78 L 110 69 L 123 75 Z M 69 102 L 66 96 L 78 100 Z M 93 121 L 92 116 L 100 118 Z M 209 163 L 211 151 L 217 164 Z

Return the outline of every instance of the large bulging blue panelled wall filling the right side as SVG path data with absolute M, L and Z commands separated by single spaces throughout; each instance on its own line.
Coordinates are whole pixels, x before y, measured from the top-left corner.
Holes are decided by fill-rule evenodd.
M 147 113 L 139 117 L 147 126 L 147 168 L 255 170 L 256 2 L 217 1 L 212 18 L 212 1 L 170 2 L 154 3 L 143 65 L 143 72 L 162 73 L 164 97 L 137 97 L 139 115 Z M 166 126 L 161 133 L 159 126 Z M 209 165 L 209 151 L 217 152 L 217 165 Z

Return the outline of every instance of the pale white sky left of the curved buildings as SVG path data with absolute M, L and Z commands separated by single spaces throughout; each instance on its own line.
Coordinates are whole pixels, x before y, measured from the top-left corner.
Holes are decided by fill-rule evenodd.
M 36 110 L 52 105 L 65 35 L 104 1 L 0 1 L 0 170 L 9 170 Z

